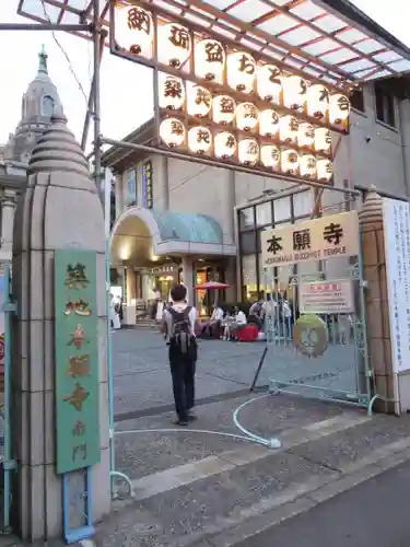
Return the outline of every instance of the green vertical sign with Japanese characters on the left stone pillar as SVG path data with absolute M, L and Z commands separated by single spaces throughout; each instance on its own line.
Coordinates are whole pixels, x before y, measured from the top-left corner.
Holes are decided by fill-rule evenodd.
M 99 462 L 96 253 L 56 251 L 57 473 Z

